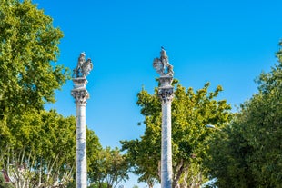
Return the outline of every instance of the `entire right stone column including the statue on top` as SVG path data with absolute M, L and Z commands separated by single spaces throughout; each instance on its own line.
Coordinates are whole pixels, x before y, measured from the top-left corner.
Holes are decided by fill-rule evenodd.
M 156 72 L 160 74 L 158 95 L 162 101 L 162 148 L 161 148 L 161 187 L 171 188 L 172 171 L 172 146 L 171 146 L 171 103 L 174 96 L 173 66 L 168 63 L 166 51 L 162 48 L 160 58 L 155 58 L 153 63 Z

